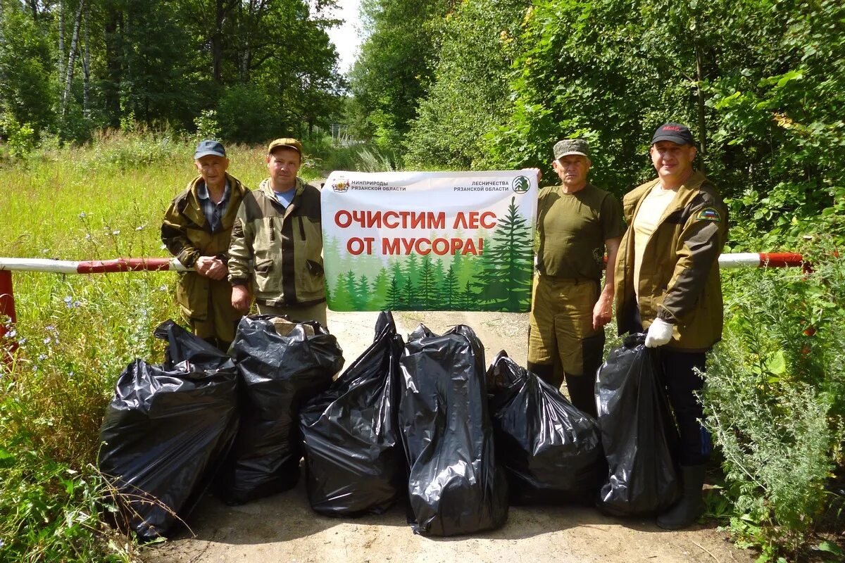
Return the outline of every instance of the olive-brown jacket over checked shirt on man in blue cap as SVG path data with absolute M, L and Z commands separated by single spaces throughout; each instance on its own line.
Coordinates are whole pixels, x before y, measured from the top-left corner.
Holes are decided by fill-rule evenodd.
M 228 259 L 232 225 L 235 223 L 237 209 L 249 190 L 241 181 L 228 173 L 226 180 L 229 181 L 231 195 L 226 214 L 221 218 L 223 228 L 216 233 L 211 232 L 211 225 L 205 219 L 197 195 L 202 176 L 189 181 L 183 192 L 173 198 L 164 214 L 164 220 L 161 223 L 161 241 L 164 242 L 167 250 L 188 268 L 193 268 L 197 258 L 201 256 L 220 257 L 224 262 Z M 225 283 L 226 280 L 224 279 L 223 282 Z M 215 284 L 215 280 L 196 272 L 179 274 L 176 300 L 187 317 L 204 320 L 208 316 L 208 296 L 212 284 Z

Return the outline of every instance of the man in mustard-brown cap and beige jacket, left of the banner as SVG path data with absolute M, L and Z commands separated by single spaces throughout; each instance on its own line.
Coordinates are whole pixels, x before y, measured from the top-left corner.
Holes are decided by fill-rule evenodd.
M 297 176 L 303 145 L 277 138 L 267 148 L 259 189 L 243 199 L 229 246 L 232 306 L 326 325 L 319 189 Z

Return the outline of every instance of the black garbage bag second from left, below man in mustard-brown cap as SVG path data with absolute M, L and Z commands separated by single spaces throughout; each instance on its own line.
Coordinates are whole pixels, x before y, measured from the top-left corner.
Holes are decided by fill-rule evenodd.
M 230 504 L 291 489 L 303 457 L 299 409 L 329 388 L 343 365 L 337 338 L 319 322 L 243 317 L 230 349 L 241 381 L 241 424 L 217 481 Z

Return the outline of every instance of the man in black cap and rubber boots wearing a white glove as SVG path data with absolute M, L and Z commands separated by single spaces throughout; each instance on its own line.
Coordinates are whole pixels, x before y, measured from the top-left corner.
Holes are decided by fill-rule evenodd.
M 704 386 L 705 354 L 722 338 L 719 254 L 728 209 L 719 191 L 693 169 L 690 129 L 664 123 L 651 138 L 657 179 L 623 198 L 625 232 L 615 268 L 619 333 L 646 333 L 658 348 L 669 403 L 681 436 L 681 500 L 657 517 L 661 528 L 690 526 L 702 509 L 710 436 L 695 392 Z

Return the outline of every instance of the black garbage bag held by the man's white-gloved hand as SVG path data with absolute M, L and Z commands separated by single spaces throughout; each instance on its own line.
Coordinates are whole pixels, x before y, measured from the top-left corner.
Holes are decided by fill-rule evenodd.
M 597 506 L 615 516 L 654 514 L 679 498 L 678 429 L 669 413 L 655 350 L 631 334 L 598 371 L 598 425 L 608 480 Z

